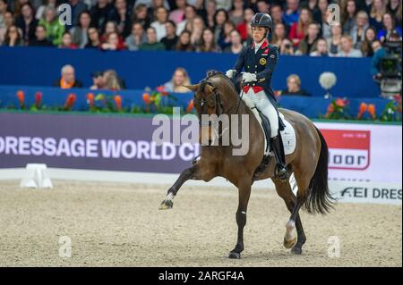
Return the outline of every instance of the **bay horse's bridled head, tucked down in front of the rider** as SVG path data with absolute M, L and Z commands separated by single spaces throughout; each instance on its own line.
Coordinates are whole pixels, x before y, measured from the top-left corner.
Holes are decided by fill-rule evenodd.
M 219 72 L 209 72 L 205 80 L 201 80 L 199 84 L 185 86 L 194 92 L 193 104 L 197 111 L 201 136 L 209 136 L 208 141 L 212 139 L 212 126 L 217 127 L 219 122 L 217 118 L 210 117 L 210 120 L 203 122 L 202 115 L 217 115 L 219 118 L 222 114 L 229 114 L 236 109 L 238 95 L 236 89 L 225 75 Z M 201 137 L 201 141 L 203 140 Z

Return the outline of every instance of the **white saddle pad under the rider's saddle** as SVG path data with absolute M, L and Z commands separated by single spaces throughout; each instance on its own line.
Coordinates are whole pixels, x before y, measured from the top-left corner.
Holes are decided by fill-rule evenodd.
M 247 105 L 251 109 L 257 121 L 260 123 L 262 131 L 264 132 L 261 116 L 259 115 L 259 112 L 256 110 L 256 108 L 254 108 L 255 105 L 253 104 L 253 101 L 247 96 L 242 96 L 242 99 L 244 100 L 245 105 Z M 286 125 L 286 128 L 280 131 L 281 138 L 283 139 L 284 153 L 286 155 L 291 155 L 296 150 L 296 130 L 294 130 L 291 124 L 285 119 L 284 114 L 279 113 L 279 116 Z M 266 149 L 267 146 L 266 140 L 266 136 L 264 136 L 264 149 Z M 267 154 L 265 153 L 265 155 Z M 270 155 L 274 154 L 270 152 Z

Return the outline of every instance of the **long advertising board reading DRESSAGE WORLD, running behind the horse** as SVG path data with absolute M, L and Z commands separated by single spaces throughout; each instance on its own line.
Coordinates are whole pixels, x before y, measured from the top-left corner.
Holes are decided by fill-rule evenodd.
M 172 129 L 183 129 L 171 120 Z M 400 125 L 317 122 L 329 148 L 332 181 L 402 180 Z M 196 143 L 152 141 L 152 118 L 0 113 L 0 168 L 48 167 L 179 173 L 199 155 Z M 194 128 L 197 128 L 197 124 Z

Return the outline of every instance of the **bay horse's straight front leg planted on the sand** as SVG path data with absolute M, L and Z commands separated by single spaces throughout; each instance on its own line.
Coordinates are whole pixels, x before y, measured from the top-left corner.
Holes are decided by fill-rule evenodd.
M 239 202 L 236 211 L 236 223 L 238 225 L 238 238 L 236 247 L 229 253 L 229 258 L 241 258 L 241 252 L 244 250 L 244 225 L 246 224 L 246 210 L 251 196 L 251 180 L 245 180 L 238 186 Z

